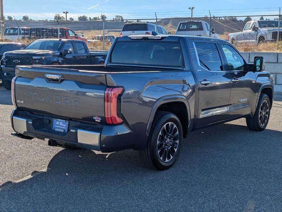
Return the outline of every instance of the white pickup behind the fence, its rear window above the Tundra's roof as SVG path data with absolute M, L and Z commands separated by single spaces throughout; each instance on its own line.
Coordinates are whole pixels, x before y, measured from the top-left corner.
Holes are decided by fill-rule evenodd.
M 210 24 L 201 20 L 189 20 L 179 22 L 175 35 L 191 35 L 200 37 L 218 38 L 214 33 L 214 29 L 210 30 Z

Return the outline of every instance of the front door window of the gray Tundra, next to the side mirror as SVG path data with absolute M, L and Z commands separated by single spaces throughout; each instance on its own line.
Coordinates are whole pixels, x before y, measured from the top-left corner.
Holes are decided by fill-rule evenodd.
M 243 58 L 237 53 L 237 51 L 226 44 L 221 44 L 224 55 L 226 57 L 228 67 L 230 71 L 243 71 L 245 64 Z

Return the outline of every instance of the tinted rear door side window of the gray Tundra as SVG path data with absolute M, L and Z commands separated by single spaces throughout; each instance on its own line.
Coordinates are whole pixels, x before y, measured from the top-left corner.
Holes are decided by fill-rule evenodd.
M 194 43 L 198 64 L 209 71 L 222 71 L 222 63 L 215 43 Z

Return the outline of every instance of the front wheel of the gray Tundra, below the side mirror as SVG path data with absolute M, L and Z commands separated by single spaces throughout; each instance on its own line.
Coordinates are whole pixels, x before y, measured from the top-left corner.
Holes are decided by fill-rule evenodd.
M 258 105 L 253 117 L 247 117 L 247 127 L 252 131 L 262 131 L 266 128 L 270 117 L 269 97 L 262 93 L 258 100 Z

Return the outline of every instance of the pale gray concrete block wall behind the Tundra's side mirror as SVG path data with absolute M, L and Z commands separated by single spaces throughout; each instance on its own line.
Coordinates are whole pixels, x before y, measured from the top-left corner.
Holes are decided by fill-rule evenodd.
M 249 63 L 254 62 L 255 56 L 265 59 L 265 71 L 269 71 L 274 79 L 274 92 L 282 92 L 282 53 L 275 52 L 241 52 Z

